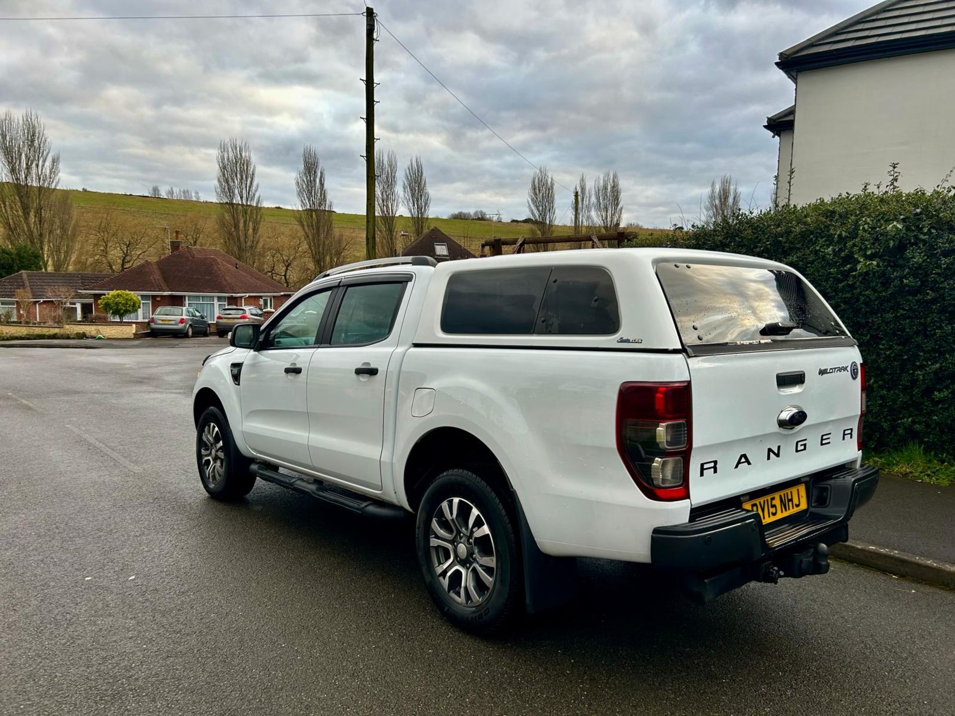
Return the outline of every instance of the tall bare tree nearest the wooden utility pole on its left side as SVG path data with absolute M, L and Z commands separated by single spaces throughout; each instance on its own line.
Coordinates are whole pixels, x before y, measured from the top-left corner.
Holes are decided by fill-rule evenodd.
M 302 150 L 302 168 L 295 174 L 295 193 L 300 207 L 295 221 L 302 230 L 312 269 L 319 274 L 337 265 L 341 257 L 332 224 L 334 207 L 325 187 L 325 167 L 310 144 Z

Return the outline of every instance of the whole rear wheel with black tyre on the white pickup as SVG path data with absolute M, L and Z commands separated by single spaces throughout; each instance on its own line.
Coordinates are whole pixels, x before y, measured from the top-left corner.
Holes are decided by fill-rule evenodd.
M 482 635 L 500 632 L 523 605 L 515 523 L 477 474 L 437 476 L 418 507 L 418 564 L 440 612 Z

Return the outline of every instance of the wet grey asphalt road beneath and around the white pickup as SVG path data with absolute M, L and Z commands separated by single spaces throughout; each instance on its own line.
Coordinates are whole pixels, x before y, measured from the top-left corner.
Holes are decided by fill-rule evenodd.
M 457 632 L 410 523 L 202 492 L 194 341 L 0 350 L 0 712 L 955 713 L 955 593 L 846 564 L 698 607 L 589 561 L 575 603 Z

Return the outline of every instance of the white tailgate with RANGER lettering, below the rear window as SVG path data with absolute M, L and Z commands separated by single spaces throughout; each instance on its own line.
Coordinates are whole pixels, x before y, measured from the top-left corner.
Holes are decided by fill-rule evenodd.
M 859 361 L 856 347 L 690 357 L 692 503 L 856 460 Z

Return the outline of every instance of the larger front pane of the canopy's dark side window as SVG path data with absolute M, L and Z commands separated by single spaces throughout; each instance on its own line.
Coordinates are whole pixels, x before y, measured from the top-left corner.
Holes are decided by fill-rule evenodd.
M 445 333 L 529 334 L 550 268 L 460 271 L 448 279 L 441 312 Z

